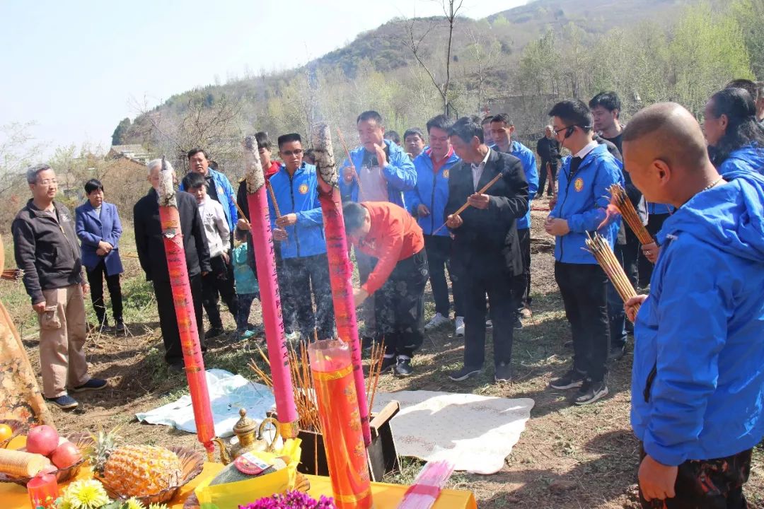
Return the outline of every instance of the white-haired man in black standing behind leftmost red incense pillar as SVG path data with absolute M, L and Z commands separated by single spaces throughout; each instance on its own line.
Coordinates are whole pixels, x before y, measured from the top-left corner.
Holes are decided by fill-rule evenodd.
M 183 351 L 180 348 L 180 332 L 175 315 L 173 291 L 170 287 L 170 272 L 167 270 L 167 256 L 164 253 L 162 226 L 159 221 L 159 195 L 157 187 L 160 182 L 162 159 L 154 159 L 148 163 L 148 181 L 151 190 L 138 200 L 133 207 L 135 228 L 135 247 L 138 259 L 146 272 L 146 280 L 154 284 L 154 295 L 157 296 L 159 308 L 159 324 L 164 340 L 164 359 L 173 371 L 183 370 Z M 167 163 L 170 171 L 173 167 Z M 174 179 L 174 172 L 173 172 Z M 202 275 L 210 272 L 209 248 L 199 217 L 199 206 L 196 198 L 187 192 L 176 192 L 175 199 L 180 216 L 180 231 L 183 233 L 183 249 L 186 250 L 186 267 L 191 284 L 194 313 L 196 313 L 196 330 L 204 330 L 202 325 Z M 204 334 L 199 333 L 199 344 L 204 347 Z

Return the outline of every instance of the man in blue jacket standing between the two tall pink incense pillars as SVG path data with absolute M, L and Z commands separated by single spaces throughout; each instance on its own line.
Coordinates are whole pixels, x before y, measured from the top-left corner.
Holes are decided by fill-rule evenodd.
M 294 303 L 303 342 L 312 341 L 316 334 L 319 340 L 326 340 L 334 337 L 334 308 L 316 166 L 303 163 L 299 134 L 283 134 L 278 143 L 284 163 L 268 183 L 281 215 L 277 216 L 270 193 L 268 209 L 274 240 L 281 241 L 281 298 Z M 315 314 L 311 295 L 316 301 Z

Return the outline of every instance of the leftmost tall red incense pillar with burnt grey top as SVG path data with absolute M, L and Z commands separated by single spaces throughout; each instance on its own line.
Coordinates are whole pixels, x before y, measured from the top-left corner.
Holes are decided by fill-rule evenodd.
M 164 253 L 167 256 L 167 270 L 170 272 L 170 288 L 173 291 L 175 316 L 178 321 L 180 344 L 183 349 L 183 363 L 186 365 L 186 379 L 189 382 L 191 406 L 196 437 L 204 444 L 208 456 L 212 455 L 215 446 L 215 423 L 212 420 L 212 407 L 209 404 L 209 391 L 202 359 L 202 348 L 199 346 L 199 330 L 196 328 L 196 312 L 193 308 L 191 285 L 189 283 L 188 267 L 186 266 L 186 250 L 183 248 L 183 232 L 180 230 L 180 215 L 175 198 L 173 172 L 165 166 L 162 158 L 160 173 L 159 220 L 162 227 Z

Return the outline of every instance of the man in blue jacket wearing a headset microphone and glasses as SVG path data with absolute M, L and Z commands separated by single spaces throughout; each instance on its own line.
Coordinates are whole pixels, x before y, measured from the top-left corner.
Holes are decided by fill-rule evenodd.
M 591 111 L 581 101 L 558 102 L 549 116 L 562 146 L 572 157 L 558 173 L 558 199 L 544 224 L 555 240 L 555 280 L 573 337 L 573 367 L 552 380 L 552 388 L 579 388 L 575 404 L 594 403 L 607 395 L 605 363 L 610 328 L 607 275 L 585 250 L 586 234 L 599 233 L 612 249 L 620 219 L 608 223 L 608 188 L 623 185 L 620 163 L 594 140 Z M 604 226 L 601 227 L 601 225 Z

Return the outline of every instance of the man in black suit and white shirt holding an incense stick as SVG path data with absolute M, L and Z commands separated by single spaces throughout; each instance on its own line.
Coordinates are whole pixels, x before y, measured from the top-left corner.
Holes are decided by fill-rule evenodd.
M 510 278 L 523 272 L 516 220 L 528 211 L 528 182 L 520 159 L 491 150 L 483 130 L 469 118 L 460 118 L 448 131 L 461 158 L 448 178 L 448 228 L 454 234 L 452 267 L 464 285 L 465 365 L 449 375 L 455 381 L 483 370 L 485 359 L 485 295 L 494 324 L 494 379 L 512 378 L 513 306 Z M 502 177 L 484 194 L 491 179 Z M 455 214 L 465 202 L 469 207 Z

